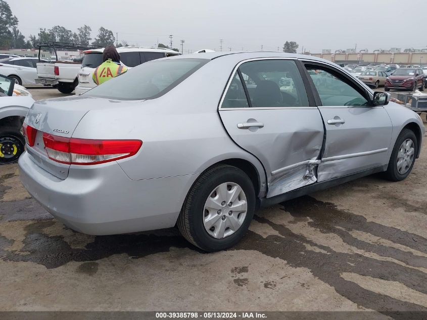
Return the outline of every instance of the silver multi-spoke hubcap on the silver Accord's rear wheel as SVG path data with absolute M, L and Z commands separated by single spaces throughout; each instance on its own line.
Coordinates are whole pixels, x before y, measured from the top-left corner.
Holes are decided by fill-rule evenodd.
M 248 202 L 242 187 L 224 182 L 209 195 L 203 209 L 203 225 L 215 239 L 223 239 L 236 232 L 245 221 Z

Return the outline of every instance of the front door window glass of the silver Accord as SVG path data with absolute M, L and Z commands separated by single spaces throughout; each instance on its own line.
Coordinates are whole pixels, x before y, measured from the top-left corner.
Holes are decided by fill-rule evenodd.
M 366 98 L 343 75 L 327 68 L 306 66 L 323 106 L 368 106 Z

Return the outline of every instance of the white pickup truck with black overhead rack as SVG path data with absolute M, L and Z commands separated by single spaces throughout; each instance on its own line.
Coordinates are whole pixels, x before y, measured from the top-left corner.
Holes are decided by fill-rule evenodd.
M 80 52 L 83 50 L 101 48 L 98 45 L 65 43 L 65 42 L 36 42 L 34 48 L 38 49 L 37 79 L 35 83 L 43 85 L 52 85 L 63 94 L 70 94 L 78 84 L 78 73 L 81 68 L 81 62 L 58 61 L 57 49 L 72 50 Z M 41 48 L 49 48 L 55 52 L 55 62 L 40 61 Z

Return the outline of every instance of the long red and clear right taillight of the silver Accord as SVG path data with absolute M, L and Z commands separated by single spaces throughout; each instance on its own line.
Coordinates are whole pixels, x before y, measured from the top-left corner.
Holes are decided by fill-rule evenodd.
M 93 140 L 64 138 L 43 133 L 50 159 L 68 164 L 99 164 L 135 155 L 143 144 L 140 140 Z

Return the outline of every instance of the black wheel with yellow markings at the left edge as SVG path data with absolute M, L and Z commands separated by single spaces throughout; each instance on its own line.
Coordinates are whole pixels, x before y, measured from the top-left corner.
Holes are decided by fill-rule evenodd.
M 0 164 L 12 163 L 18 160 L 24 152 L 25 140 L 17 128 L 5 127 L 0 129 Z

